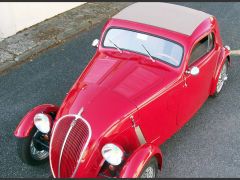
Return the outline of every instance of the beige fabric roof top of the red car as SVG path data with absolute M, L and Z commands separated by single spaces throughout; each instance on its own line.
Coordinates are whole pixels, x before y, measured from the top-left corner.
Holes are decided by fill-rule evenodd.
M 139 2 L 126 7 L 113 18 L 157 26 L 190 36 L 199 24 L 211 16 L 175 4 Z

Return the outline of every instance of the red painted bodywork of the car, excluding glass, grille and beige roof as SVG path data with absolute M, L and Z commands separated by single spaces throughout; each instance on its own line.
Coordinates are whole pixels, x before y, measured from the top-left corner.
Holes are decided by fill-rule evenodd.
M 137 177 L 152 156 L 158 158 L 161 166 L 162 154 L 158 147 L 189 121 L 208 96 L 214 93 L 220 68 L 229 56 L 229 51 L 223 47 L 215 18 L 206 19 L 191 36 L 110 19 L 103 28 L 100 42 L 112 26 L 174 40 L 184 48 L 183 60 L 175 68 L 160 61 L 152 62 L 144 55 L 103 48 L 100 43 L 96 54 L 64 99 L 53 125 L 53 129 L 58 128 L 56 122 L 59 118 L 78 114 L 84 108 L 81 115 L 90 124 L 92 136 L 74 177 L 100 177 L 104 163 L 101 149 L 106 143 L 117 143 L 130 154 L 120 177 Z M 199 75 L 186 75 L 193 46 L 210 32 L 215 34 L 214 50 L 194 63 L 200 69 Z M 49 108 L 40 106 L 29 112 L 15 135 L 26 137 L 33 127 L 34 114 Z M 52 108 L 57 110 L 55 106 Z M 130 116 L 140 126 L 146 144 L 140 144 Z M 51 143 L 54 145 L 57 142 Z M 59 153 L 51 149 L 50 164 L 53 164 L 58 161 Z

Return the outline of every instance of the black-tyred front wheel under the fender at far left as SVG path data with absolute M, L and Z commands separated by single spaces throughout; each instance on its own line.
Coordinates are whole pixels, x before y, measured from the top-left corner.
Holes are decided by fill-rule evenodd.
M 29 165 L 40 165 L 48 161 L 48 150 L 37 143 L 41 140 L 42 133 L 33 128 L 26 138 L 17 139 L 17 151 L 20 159 Z

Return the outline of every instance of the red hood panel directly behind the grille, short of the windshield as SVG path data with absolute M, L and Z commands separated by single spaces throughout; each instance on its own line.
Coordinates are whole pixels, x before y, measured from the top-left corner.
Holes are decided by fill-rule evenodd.
M 81 85 L 81 81 L 77 81 L 61 105 L 56 119 L 81 113 L 91 127 L 92 139 L 97 139 L 135 110 L 136 106 L 110 89 L 94 84 Z

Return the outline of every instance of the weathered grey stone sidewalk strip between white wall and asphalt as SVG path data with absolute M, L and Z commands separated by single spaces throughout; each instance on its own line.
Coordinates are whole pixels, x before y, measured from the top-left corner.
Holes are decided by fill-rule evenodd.
M 0 42 L 0 73 L 32 60 L 112 17 L 131 2 L 89 2 L 42 21 Z

